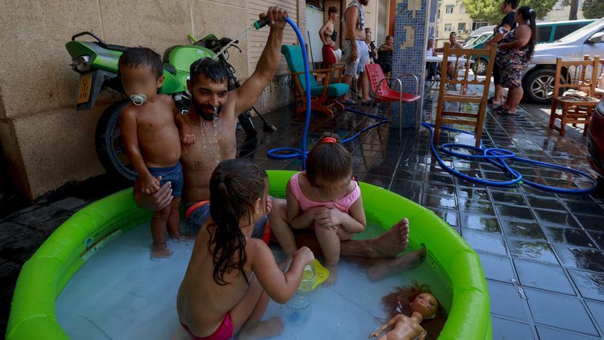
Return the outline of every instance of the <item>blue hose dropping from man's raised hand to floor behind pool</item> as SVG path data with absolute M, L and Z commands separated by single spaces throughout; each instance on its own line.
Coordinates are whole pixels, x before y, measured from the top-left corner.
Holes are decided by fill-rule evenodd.
M 304 121 L 304 133 L 302 133 L 302 142 L 301 142 L 301 146 L 300 148 L 274 148 L 271 149 L 269 151 L 267 151 L 267 156 L 269 158 L 272 159 L 288 159 L 288 158 L 300 158 L 302 159 L 302 170 L 306 169 L 306 155 L 308 155 L 308 151 L 306 151 L 306 136 L 309 133 L 309 125 L 311 124 L 311 73 L 309 71 L 309 57 L 306 55 L 306 49 L 304 48 L 304 38 L 302 38 L 302 34 L 300 33 L 300 30 L 298 30 L 298 26 L 295 25 L 295 23 L 293 23 L 293 21 L 289 18 L 285 18 L 285 21 L 287 21 L 287 23 L 289 23 L 289 25 L 291 26 L 291 28 L 293 29 L 293 32 L 295 32 L 295 35 L 298 36 L 298 41 L 300 41 L 300 46 L 302 46 L 302 59 L 304 61 L 304 81 L 306 82 L 306 90 L 304 91 L 305 95 L 306 95 L 306 120 Z M 366 117 L 370 117 L 370 118 L 374 118 L 376 120 L 379 120 L 379 122 L 374 123 L 370 126 L 367 126 L 366 128 L 363 128 L 361 131 L 359 131 L 358 133 L 355 133 L 355 135 L 352 135 L 351 137 L 348 137 L 344 140 L 342 140 L 342 143 L 346 143 L 348 141 L 351 141 L 357 137 L 359 137 L 361 135 L 361 133 L 370 130 L 371 128 L 374 128 L 376 126 L 379 126 L 381 124 L 390 122 L 390 120 L 387 117 L 382 117 L 380 115 L 372 115 L 370 113 L 365 113 L 363 111 L 357 111 L 354 109 L 344 109 L 346 111 L 352 112 L 352 113 L 356 113 L 357 115 L 364 115 Z

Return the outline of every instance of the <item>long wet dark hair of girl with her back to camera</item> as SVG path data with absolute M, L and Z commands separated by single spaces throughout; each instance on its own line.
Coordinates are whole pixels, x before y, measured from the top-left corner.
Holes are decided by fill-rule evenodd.
M 252 222 L 254 204 L 267 195 L 267 173 L 246 159 L 221 161 L 210 177 L 210 242 L 208 251 L 214 264 L 214 282 L 221 286 L 228 284 L 225 273 L 232 270 L 243 273 L 245 256 L 245 236 L 239 228 L 241 218 Z

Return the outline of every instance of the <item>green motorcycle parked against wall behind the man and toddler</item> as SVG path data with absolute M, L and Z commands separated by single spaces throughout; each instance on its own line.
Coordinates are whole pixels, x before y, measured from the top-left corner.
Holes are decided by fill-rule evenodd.
M 80 36 L 89 36 L 93 41 L 76 40 Z M 236 41 L 231 41 L 229 38 L 218 39 L 210 34 L 200 41 L 192 39 L 192 42 L 193 45 L 169 47 L 163 56 L 165 79 L 159 88 L 159 93 L 172 95 L 177 109 L 181 112 L 188 111 L 190 107 L 187 79 L 190 65 L 199 58 L 214 58 L 219 52 L 219 60 L 225 63 L 230 71 L 230 89 L 238 87 L 239 84 L 235 71 L 227 60 L 227 49 L 230 47 L 239 49 Z M 126 97 L 122 80 L 118 76 L 118 60 L 128 47 L 108 44 L 91 32 L 75 34 L 65 47 L 72 58 L 71 67 L 80 73 L 76 95 L 77 111 L 91 109 L 101 91 L 116 91 L 124 98 L 111 104 L 100 117 L 95 134 L 96 152 L 102 166 L 108 172 L 120 174 L 127 179 L 136 179 L 137 173 L 126 155 L 120 132 L 120 114 L 130 99 Z M 241 49 L 239 51 L 241 52 Z M 255 137 L 256 128 L 251 121 L 250 112 L 241 113 L 238 119 L 247 137 Z M 265 130 L 267 124 L 265 122 Z M 276 130 L 270 124 L 269 127 L 273 131 Z

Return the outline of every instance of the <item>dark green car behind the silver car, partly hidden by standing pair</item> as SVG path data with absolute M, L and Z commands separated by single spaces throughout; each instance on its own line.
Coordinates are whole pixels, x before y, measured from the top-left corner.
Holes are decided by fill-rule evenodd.
M 572 21 L 554 21 L 551 23 L 537 23 L 537 44 L 541 43 L 553 43 L 568 34 L 581 29 L 581 27 L 585 27 L 586 25 L 594 22 L 594 19 L 586 19 L 586 20 L 572 20 Z M 489 27 L 489 31 L 482 30 L 486 27 Z M 488 41 L 491 36 L 493 36 L 493 28 L 495 26 L 484 26 L 480 27 L 478 30 L 472 32 L 470 37 L 467 39 L 468 43 L 465 43 L 465 48 L 473 48 L 479 49 L 484 47 L 484 43 Z M 476 37 L 474 40 L 470 40 L 470 38 Z M 474 58 L 476 59 L 476 57 Z M 482 56 L 480 60 L 478 60 L 476 67 L 478 68 L 478 74 L 484 75 L 486 73 L 486 65 L 489 63 L 489 57 Z M 554 65 L 556 64 L 556 60 L 554 60 Z

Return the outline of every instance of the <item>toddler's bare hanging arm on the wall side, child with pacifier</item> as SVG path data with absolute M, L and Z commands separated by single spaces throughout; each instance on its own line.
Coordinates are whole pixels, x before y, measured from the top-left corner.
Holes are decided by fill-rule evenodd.
M 126 146 L 128 158 L 130 158 L 134 170 L 136 170 L 141 179 L 142 192 L 153 194 L 159 190 L 159 181 L 153 177 L 145 165 L 140 148 L 138 147 L 136 113 L 127 106 L 122 110 L 120 128 L 122 129 L 122 139 L 124 146 Z

